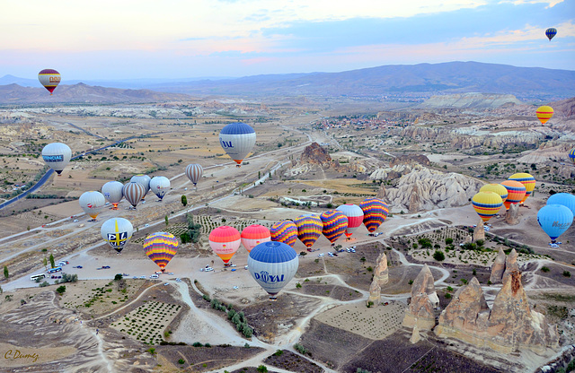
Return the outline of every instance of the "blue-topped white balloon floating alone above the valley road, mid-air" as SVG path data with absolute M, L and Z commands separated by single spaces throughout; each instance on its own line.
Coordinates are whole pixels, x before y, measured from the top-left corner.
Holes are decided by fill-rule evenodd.
M 219 144 L 240 167 L 255 145 L 255 131 L 245 123 L 230 123 L 219 133 Z

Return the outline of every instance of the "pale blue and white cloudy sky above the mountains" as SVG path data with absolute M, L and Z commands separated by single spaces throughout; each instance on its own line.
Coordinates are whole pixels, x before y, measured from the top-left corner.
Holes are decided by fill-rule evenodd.
M 449 61 L 575 70 L 575 0 L 2 0 L 0 35 L 0 76 L 53 68 L 63 82 Z

